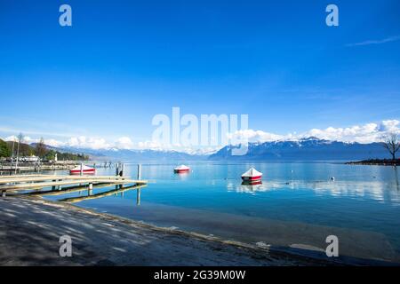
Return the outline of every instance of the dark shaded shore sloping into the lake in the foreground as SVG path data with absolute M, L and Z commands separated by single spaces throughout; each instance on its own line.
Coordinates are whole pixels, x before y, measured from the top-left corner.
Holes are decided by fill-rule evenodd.
M 60 257 L 61 235 L 72 257 Z M 42 199 L 0 199 L 1 265 L 326 265 Z

